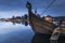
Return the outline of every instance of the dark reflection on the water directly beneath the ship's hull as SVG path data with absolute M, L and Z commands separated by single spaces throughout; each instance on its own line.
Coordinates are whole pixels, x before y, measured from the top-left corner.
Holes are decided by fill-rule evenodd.
M 50 35 L 36 33 L 32 38 L 31 43 L 65 43 L 65 38 L 61 37 L 58 41 L 50 41 Z

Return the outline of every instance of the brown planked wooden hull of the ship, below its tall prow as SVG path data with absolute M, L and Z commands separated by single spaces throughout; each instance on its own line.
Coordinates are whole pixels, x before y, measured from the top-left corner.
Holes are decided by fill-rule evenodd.
M 29 15 L 29 24 L 36 33 L 52 34 L 55 26 L 53 23 L 42 20 L 35 14 Z M 61 37 L 65 37 L 65 27 L 61 27 Z

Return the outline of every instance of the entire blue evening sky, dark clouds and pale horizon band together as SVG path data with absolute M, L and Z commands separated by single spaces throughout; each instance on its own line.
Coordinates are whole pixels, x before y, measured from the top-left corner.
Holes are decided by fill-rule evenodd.
M 0 0 L 0 18 L 27 14 L 27 1 L 32 4 L 32 10 L 35 11 L 37 9 L 41 15 L 53 0 Z M 55 0 L 41 16 L 43 15 L 65 16 L 65 0 Z

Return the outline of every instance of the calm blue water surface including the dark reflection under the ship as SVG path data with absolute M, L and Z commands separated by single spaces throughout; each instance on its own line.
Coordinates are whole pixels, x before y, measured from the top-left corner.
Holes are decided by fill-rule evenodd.
M 47 34 L 35 33 L 30 26 L 0 23 L 0 43 L 51 43 L 49 38 Z M 57 42 L 65 43 L 65 38 L 60 38 Z

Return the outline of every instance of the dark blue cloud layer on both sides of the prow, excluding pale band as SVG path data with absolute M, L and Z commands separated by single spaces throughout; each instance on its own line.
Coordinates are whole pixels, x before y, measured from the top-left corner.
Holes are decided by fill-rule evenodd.
M 26 10 L 26 1 L 32 4 L 32 10 L 38 9 L 41 12 L 52 2 L 52 0 L 0 0 L 0 11 L 21 11 Z M 39 12 L 41 14 L 41 12 Z M 65 14 L 65 0 L 56 0 L 50 9 L 47 10 L 47 14 Z

